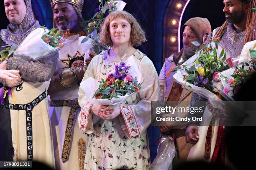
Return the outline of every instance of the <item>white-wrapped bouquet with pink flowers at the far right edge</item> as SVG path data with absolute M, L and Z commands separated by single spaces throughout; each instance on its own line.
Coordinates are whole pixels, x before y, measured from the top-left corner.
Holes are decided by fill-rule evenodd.
M 218 90 L 233 100 L 233 96 L 243 86 L 252 73 L 256 72 L 256 59 L 241 62 L 240 65 L 218 73 L 222 86 Z

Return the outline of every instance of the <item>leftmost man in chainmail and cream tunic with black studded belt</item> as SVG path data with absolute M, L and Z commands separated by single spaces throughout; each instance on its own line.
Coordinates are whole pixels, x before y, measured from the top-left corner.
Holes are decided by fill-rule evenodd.
M 4 0 L 4 5 L 10 24 L 0 30 L 0 50 L 7 44 L 19 45 L 40 27 L 31 0 Z M 8 91 L 0 105 L 1 161 L 35 160 L 54 167 L 46 81 L 54 74 L 58 57 L 56 53 L 35 62 L 8 57 L 1 63 L 1 68 L 20 71 L 13 80 L 0 79 Z

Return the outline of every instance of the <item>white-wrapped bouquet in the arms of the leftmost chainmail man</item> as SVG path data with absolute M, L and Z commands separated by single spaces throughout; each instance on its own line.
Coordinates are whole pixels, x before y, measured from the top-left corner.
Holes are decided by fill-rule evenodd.
M 56 30 L 57 28 L 48 30 L 44 26 L 33 30 L 20 45 L 9 44 L 5 50 L 2 50 L 0 60 L 14 57 L 25 61 L 36 61 L 50 57 L 68 43 L 65 42 L 65 38 L 69 30 L 64 33 Z

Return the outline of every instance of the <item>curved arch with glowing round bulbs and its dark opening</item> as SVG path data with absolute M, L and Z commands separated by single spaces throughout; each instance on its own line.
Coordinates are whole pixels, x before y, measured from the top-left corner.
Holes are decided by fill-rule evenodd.
M 169 0 L 163 24 L 163 59 L 181 50 L 181 28 L 187 20 L 207 18 L 213 30 L 225 22 L 223 7 L 222 0 L 211 3 L 210 7 L 205 0 Z

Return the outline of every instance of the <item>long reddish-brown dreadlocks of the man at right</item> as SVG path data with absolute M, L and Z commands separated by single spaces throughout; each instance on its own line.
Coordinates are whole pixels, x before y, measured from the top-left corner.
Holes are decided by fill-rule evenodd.
M 251 10 L 252 7 L 256 7 L 256 0 L 240 0 L 242 3 L 248 3 L 248 14 L 246 18 L 246 36 L 244 38 L 244 43 L 250 42 L 255 40 L 256 38 L 256 28 L 255 28 L 255 22 L 256 22 L 256 13 Z M 217 37 L 222 37 L 227 30 L 228 27 L 228 21 L 225 21 L 223 25 L 217 30 L 214 39 Z

